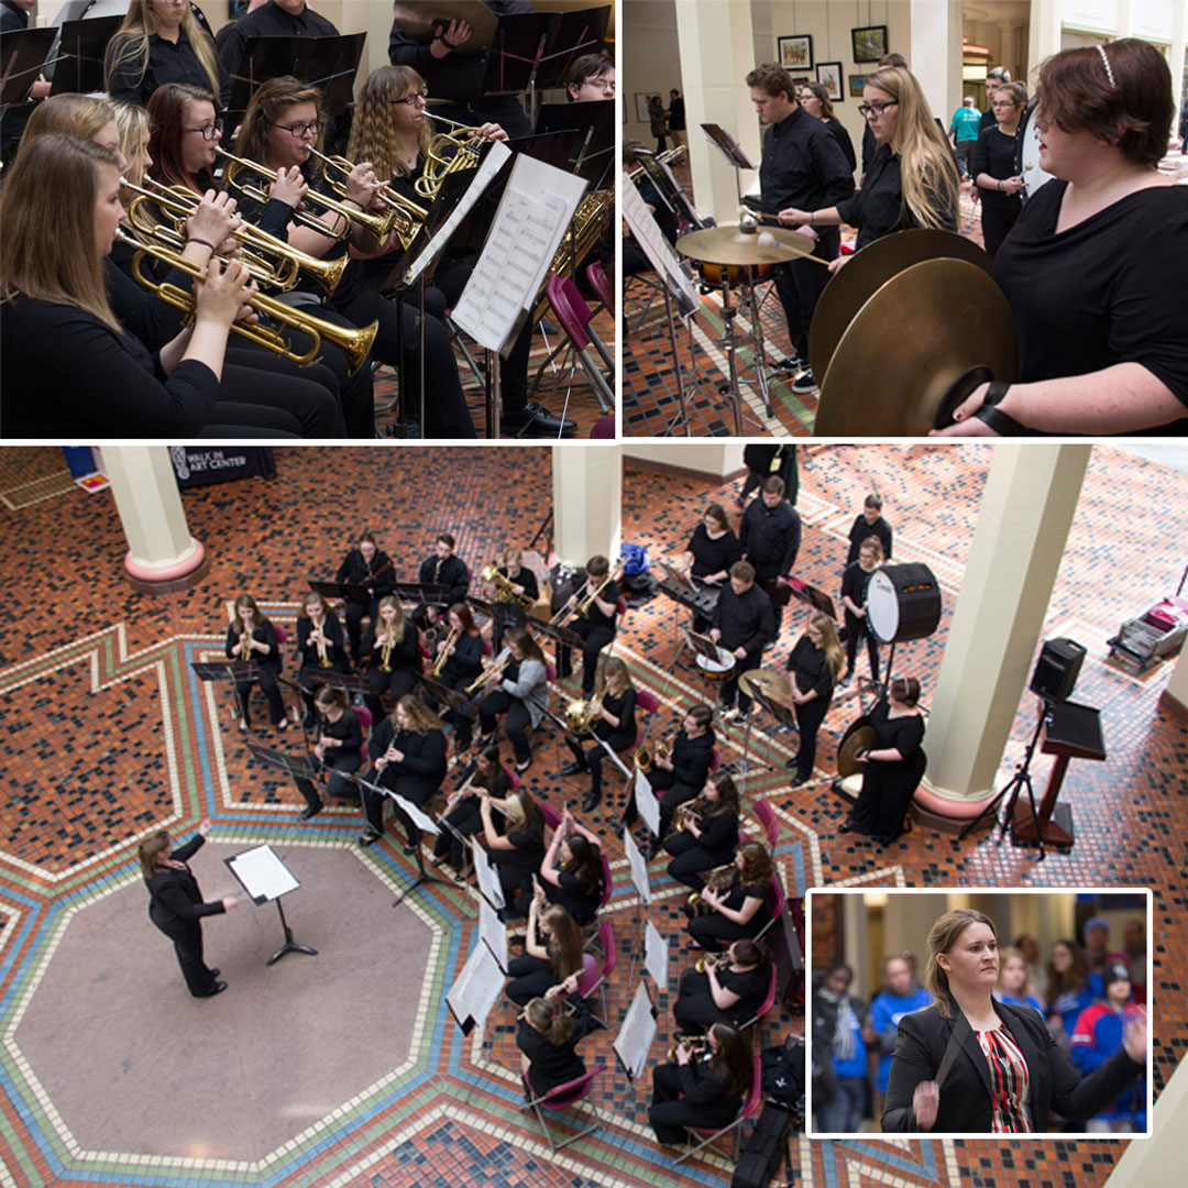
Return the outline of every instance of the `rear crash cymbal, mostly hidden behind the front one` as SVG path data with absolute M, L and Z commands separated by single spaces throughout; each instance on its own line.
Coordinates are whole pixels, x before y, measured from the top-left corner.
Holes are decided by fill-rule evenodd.
M 858 252 L 824 286 L 809 327 L 809 366 L 821 377 L 858 311 L 893 276 L 922 260 L 968 260 L 990 272 L 990 257 L 948 230 L 897 230 Z

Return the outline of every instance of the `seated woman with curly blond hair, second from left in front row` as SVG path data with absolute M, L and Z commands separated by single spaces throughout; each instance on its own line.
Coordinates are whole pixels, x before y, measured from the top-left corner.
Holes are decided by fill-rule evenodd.
M 441 719 L 415 694 L 400 697 L 391 716 L 375 727 L 367 750 L 380 785 L 418 809 L 437 795 L 446 779 L 446 732 Z M 362 791 L 367 828 L 359 845 L 373 846 L 384 835 L 384 797 L 369 788 Z M 421 841 L 421 830 L 400 808 L 396 815 L 404 826 L 405 851 L 411 852 Z

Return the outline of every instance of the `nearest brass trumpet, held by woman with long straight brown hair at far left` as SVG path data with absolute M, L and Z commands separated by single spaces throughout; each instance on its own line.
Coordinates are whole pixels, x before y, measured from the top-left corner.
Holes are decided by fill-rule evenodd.
M 132 258 L 132 276 L 137 283 L 145 289 L 151 289 L 166 304 L 182 310 L 182 312 L 188 317 L 192 317 L 194 311 L 197 308 L 197 299 L 194 295 L 187 292 L 184 289 L 178 289 L 177 285 L 171 285 L 164 282 L 158 283 L 157 280 L 146 277 L 140 271 L 140 263 L 146 255 L 148 255 L 156 260 L 163 260 L 170 267 L 177 268 L 194 279 L 204 277 L 206 270 L 198 267 L 198 265 L 194 264 L 191 260 L 188 260 L 179 252 L 173 252 L 166 247 L 158 247 L 152 244 L 145 244 L 120 228 L 116 228 L 115 234 L 122 242 L 137 248 L 137 254 Z M 379 330 L 378 321 L 372 322 L 371 326 L 364 327 L 362 329 L 335 326 L 334 322 L 327 322 L 323 318 L 314 317 L 312 314 L 309 314 L 303 309 L 295 309 L 286 305 L 282 301 L 277 301 L 274 297 L 265 297 L 263 293 L 257 293 L 251 302 L 248 302 L 248 304 L 258 314 L 265 315 L 272 322 L 277 322 L 280 326 L 289 327 L 290 329 L 309 335 L 312 340 L 310 348 L 304 354 L 297 354 L 290 348 L 289 343 L 285 342 L 285 339 L 279 330 L 271 327 L 253 326 L 247 322 L 232 322 L 232 333 L 239 334 L 245 339 L 249 339 L 252 342 L 257 342 L 261 347 L 267 347 L 278 355 L 284 355 L 285 359 L 291 359 L 299 366 L 314 362 L 322 349 L 322 343 L 329 342 L 337 347 L 347 356 L 350 365 L 350 374 L 353 375 L 356 371 L 359 371 L 362 361 L 367 358 L 367 353 L 371 350 L 372 342 Z

